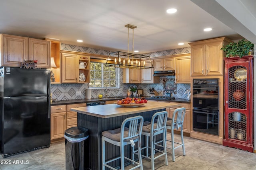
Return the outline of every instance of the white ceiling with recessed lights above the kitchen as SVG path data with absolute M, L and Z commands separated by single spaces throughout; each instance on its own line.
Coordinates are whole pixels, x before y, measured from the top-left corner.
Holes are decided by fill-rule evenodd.
M 250 38 L 246 31 L 224 24 L 230 19 L 222 20 L 224 16 L 220 14 L 227 11 L 220 6 L 221 1 L 227 0 L 1 0 L 0 33 L 54 38 L 71 45 L 127 51 L 128 30 L 124 25 L 132 24 L 137 26 L 134 29 L 134 50 L 139 50 L 140 54 L 189 47 L 189 42 L 213 37 Z M 246 3 L 242 4 L 250 6 L 251 10 L 256 9 L 250 5 L 255 5 L 254 0 L 228 1 L 243 1 Z M 212 12 L 210 2 L 223 9 Z M 166 14 L 168 8 L 177 8 L 178 11 Z M 255 18 L 255 12 L 250 14 Z M 213 30 L 204 32 L 206 27 Z M 131 33 L 130 29 L 130 40 Z M 77 39 L 84 42 L 77 43 Z M 180 46 L 180 42 L 185 44 Z

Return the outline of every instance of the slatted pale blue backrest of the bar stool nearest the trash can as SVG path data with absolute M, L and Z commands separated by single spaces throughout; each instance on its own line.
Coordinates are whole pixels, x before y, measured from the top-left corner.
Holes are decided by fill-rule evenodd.
M 122 141 L 129 141 L 131 139 L 137 139 L 141 136 L 142 125 L 143 125 L 143 117 L 142 116 L 135 116 L 135 117 L 128 117 L 124 119 L 121 125 L 121 142 Z M 124 131 L 126 123 L 129 123 L 129 131 Z M 137 131 L 138 124 L 140 123 L 139 130 Z

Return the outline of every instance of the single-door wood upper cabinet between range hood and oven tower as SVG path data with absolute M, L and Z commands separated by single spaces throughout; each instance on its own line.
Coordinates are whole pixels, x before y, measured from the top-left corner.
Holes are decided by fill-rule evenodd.
M 190 53 L 184 57 L 175 57 L 176 83 L 190 83 Z

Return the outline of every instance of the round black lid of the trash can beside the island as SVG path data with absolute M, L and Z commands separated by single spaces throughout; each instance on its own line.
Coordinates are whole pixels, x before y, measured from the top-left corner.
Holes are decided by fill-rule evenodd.
M 89 134 L 89 130 L 85 127 L 70 127 L 65 131 L 65 135 L 72 138 L 82 138 Z

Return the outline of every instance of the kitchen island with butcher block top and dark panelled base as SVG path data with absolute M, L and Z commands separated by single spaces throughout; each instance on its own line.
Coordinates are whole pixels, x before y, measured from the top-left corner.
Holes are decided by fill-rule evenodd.
M 85 141 L 84 161 L 85 166 L 91 170 L 99 170 L 102 162 L 102 131 L 112 130 L 121 127 L 122 121 L 127 117 L 141 115 L 144 121 L 151 121 L 154 113 L 164 111 L 166 108 L 178 107 L 180 104 L 161 103 L 148 101 L 147 104 L 139 107 L 124 107 L 117 104 L 72 108 L 78 112 L 78 126 L 89 129 L 89 138 Z M 144 146 L 142 139 L 142 146 Z M 125 147 L 125 156 L 130 155 L 130 146 Z M 106 160 L 120 155 L 119 147 L 111 144 L 106 145 Z M 126 162 L 128 165 L 130 162 Z M 118 167 L 119 160 L 114 161 L 112 166 Z

